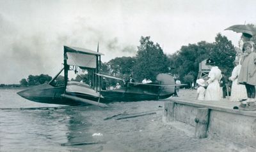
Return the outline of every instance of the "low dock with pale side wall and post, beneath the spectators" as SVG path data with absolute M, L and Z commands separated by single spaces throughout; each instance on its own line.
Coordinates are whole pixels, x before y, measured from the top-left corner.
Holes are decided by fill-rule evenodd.
M 164 103 L 164 118 L 195 127 L 196 138 L 218 135 L 256 148 L 256 111 L 233 109 L 239 104 L 171 98 Z

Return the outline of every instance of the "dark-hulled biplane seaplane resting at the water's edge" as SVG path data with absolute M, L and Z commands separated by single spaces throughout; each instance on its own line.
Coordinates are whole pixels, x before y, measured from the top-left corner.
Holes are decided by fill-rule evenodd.
M 169 74 L 158 74 L 154 83 L 129 83 L 115 90 L 102 90 L 103 78 L 124 79 L 100 74 L 100 55 L 84 48 L 64 46 L 64 67 L 48 83 L 18 92 L 21 97 L 47 104 L 93 104 L 106 107 L 108 102 L 166 99 L 175 92 L 175 81 Z M 86 70 L 88 83 L 68 81 L 68 72 L 77 68 Z M 64 84 L 56 84 L 56 78 L 64 71 Z M 124 81 L 125 82 L 125 81 Z

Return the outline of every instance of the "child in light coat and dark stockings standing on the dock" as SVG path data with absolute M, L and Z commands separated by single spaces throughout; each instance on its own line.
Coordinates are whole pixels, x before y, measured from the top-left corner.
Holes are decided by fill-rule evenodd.
M 243 57 L 241 59 L 241 71 L 238 76 L 238 83 L 245 85 L 247 100 L 243 100 L 241 107 L 248 106 L 248 102 L 255 102 L 255 85 L 256 85 L 256 53 L 254 43 L 247 41 L 243 45 Z

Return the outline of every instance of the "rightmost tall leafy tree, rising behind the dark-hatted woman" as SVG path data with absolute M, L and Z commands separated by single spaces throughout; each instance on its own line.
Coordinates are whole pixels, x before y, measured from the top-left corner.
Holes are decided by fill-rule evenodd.
M 217 34 L 210 56 L 215 61 L 216 66 L 220 67 L 223 73 L 230 76 L 234 68 L 233 61 L 236 58 L 236 50 L 226 36 L 221 36 L 220 33 Z

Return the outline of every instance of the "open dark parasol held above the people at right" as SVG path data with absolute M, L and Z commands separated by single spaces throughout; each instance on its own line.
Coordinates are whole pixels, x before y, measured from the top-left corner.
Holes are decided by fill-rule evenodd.
M 232 25 L 225 30 L 231 30 L 234 32 L 242 32 L 253 36 L 256 34 L 256 29 L 251 25 Z

